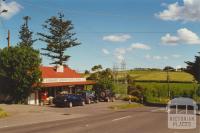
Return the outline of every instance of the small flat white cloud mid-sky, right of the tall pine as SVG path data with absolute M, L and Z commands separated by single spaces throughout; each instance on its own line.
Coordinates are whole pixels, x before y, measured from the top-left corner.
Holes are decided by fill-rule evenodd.
M 131 36 L 128 34 L 121 34 L 121 35 L 108 35 L 104 36 L 103 40 L 104 41 L 109 41 L 109 42 L 125 42 L 128 39 L 130 39 Z

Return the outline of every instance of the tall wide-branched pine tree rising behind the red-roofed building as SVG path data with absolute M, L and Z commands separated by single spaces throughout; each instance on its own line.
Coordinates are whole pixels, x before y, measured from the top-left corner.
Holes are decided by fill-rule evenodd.
M 80 45 L 77 38 L 74 38 L 72 22 L 64 20 L 64 15 L 59 13 L 58 17 L 53 16 L 47 19 L 43 28 L 48 32 L 47 34 L 38 33 L 40 40 L 47 44 L 46 48 L 42 48 L 46 51 L 43 55 L 53 60 L 51 64 L 63 65 L 70 58 L 65 51 L 70 47 Z

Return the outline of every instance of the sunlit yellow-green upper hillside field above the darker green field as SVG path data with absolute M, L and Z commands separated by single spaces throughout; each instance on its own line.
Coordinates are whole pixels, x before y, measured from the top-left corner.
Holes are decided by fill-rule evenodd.
M 167 72 L 164 71 L 137 71 L 132 70 L 127 72 L 130 76 L 132 76 L 136 81 L 166 81 L 167 80 Z M 122 77 L 123 73 L 119 73 L 119 77 Z M 169 80 L 170 81 L 181 81 L 181 82 L 191 82 L 193 80 L 193 76 L 186 72 L 169 72 Z

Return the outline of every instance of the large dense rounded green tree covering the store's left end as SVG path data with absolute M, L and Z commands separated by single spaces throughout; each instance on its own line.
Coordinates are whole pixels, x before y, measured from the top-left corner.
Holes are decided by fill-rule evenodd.
M 0 93 L 13 103 L 25 103 L 41 81 L 39 51 L 30 47 L 10 47 L 0 51 Z

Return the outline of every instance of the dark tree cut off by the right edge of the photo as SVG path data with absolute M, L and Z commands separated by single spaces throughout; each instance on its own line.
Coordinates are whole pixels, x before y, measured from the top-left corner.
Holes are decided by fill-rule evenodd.
M 186 61 L 185 63 L 187 64 L 186 72 L 192 74 L 194 79 L 200 83 L 200 56 L 195 56 L 194 62 Z

